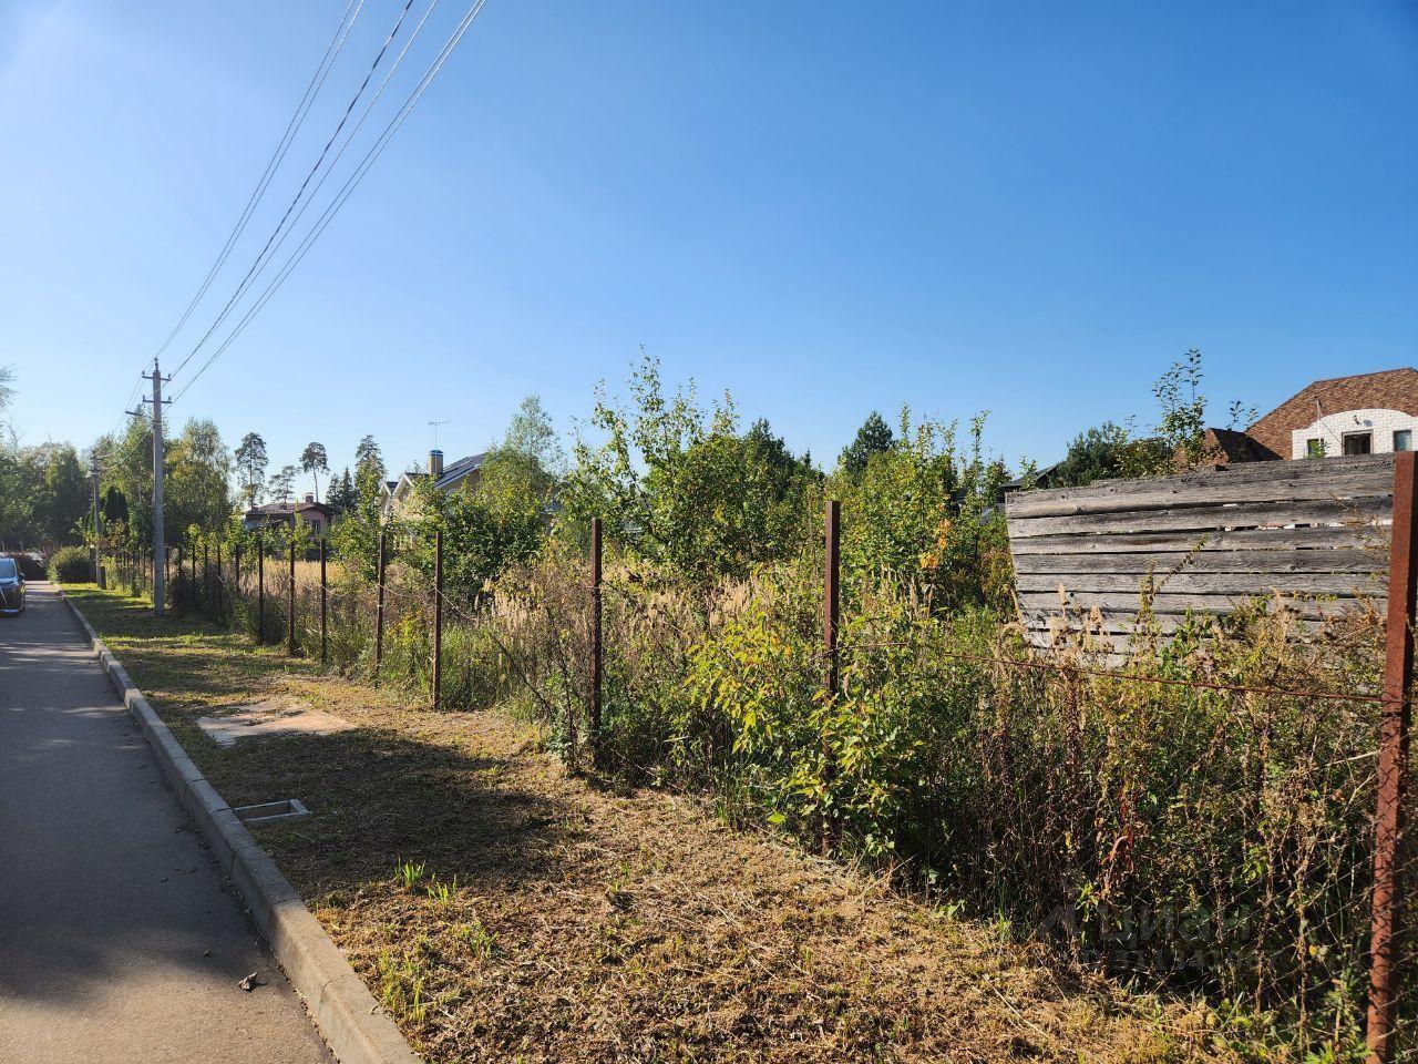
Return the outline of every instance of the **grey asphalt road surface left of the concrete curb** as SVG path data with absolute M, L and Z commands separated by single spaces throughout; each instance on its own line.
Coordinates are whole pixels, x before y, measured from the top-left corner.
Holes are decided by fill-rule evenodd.
M 330 1060 L 68 607 L 30 584 L 0 617 L 0 1064 Z

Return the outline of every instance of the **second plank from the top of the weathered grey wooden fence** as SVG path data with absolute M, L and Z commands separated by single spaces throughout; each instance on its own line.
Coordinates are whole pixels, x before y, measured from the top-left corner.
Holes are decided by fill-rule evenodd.
M 1387 497 L 1357 499 L 1313 499 L 1305 502 L 1238 502 L 1224 506 L 1181 506 L 1113 514 L 1073 514 L 1052 518 L 1010 518 L 1010 538 L 1093 532 L 1168 532 L 1218 528 L 1283 528 L 1288 525 L 1346 525 L 1388 519 L 1392 502 Z

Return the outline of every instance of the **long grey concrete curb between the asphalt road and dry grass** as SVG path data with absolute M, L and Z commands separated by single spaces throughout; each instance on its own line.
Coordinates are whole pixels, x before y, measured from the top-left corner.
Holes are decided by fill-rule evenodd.
M 315 1026 L 340 1064 L 423 1064 L 349 960 L 311 915 L 301 895 L 257 844 L 201 770 L 153 712 L 118 658 L 104 645 L 62 589 L 109 681 L 153 748 L 177 800 L 197 821 L 203 838 L 251 908 L 251 918 L 271 943 L 291 986 L 305 999 Z

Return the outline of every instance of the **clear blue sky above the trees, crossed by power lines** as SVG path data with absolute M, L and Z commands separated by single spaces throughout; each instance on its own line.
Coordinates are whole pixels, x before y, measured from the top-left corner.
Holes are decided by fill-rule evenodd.
M 366 0 L 169 366 L 400 6 Z M 386 104 L 464 7 L 440 0 Z M 119 420 L 343 9 L 0 0 L 0 365 L 26 443 Z M 1146 423 L 1195 346 L 1224 421 L 1231 399 L 1418 363 L 1415 113 L 1397 1 L 489 0 L 172 413 L 259 431 L 274 465 L 312 438 L 340 465 L 373 433 L 398 468 L 427 421 L 450 455 L 481 450 L 530 392 L 569 430 L 644 345 L 818 458 L 910 403 L 990 410 L 995 451 L 1049 461 L 1103 419 Z

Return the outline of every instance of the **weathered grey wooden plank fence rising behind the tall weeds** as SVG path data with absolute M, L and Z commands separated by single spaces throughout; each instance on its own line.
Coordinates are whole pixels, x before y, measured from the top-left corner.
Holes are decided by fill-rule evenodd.
M 1149 576 L 1163 631 L 1254 596 L 1312 623 L 1361 600 L 1383 610 L 1392 491 L 1392 455 L 1364 455 L 1015 492 L 1021 617 L 1038 643 L 1092 617 L 1119 644 Z

